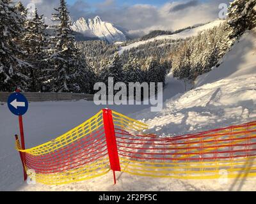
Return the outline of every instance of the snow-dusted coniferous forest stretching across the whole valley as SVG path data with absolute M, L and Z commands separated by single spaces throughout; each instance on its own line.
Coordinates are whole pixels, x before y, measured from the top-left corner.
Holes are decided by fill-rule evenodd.
M 65 0 L 54 8 L 52 25 L 45 25 L 37 10 L 28 19 L 22 3 L 0 0 L 0 91 L 93 93 L 95 82 L 107 83 L 108 77 L 126 84 L 164 83 L 170 72 L 195 80 L 218 66 L 232 43 L 255 27 L 255 4 L 236 0 L 218 27 L 191 38 L 151 41 L 119 55 L 115 44 L 75 40 Z M 180 31 L 154 31 L 140 40 Z

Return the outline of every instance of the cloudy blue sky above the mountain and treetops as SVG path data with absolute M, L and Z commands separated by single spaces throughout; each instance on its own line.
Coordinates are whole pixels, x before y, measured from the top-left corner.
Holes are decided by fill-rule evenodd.
M 59 0 L 21 0 L 34 3 L 40 14 L 51 19 Z M 99 16 L 133 36 L 156 29 L 175 31 L 216 20 L 221 3 L 231 0 L 67 0 L 72 20 Z M 51 24 L 50 20 L 46 20 Z

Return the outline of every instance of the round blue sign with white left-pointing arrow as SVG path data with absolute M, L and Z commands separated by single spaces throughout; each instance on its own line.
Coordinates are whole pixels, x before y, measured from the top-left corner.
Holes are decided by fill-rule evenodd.
M 24 115 L 28 110 L 28 100 L 20 92 L 11 94 L 7 103 L 10 112 L 14 115 Z

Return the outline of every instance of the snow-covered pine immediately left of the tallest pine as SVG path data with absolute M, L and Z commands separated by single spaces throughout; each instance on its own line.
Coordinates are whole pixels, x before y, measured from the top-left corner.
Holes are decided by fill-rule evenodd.
M 47 25 L 42 19 L 43 15 L 38 15 L 35 10 L 34 17 L 26 21 L 26 34 L 22 40 L 28 52 L 27 61 L 32 65 L 29 68 L 29 91 L 32 92 L 43 91 L 44 70 L 48 69 L 48 36 L 45 34 Z

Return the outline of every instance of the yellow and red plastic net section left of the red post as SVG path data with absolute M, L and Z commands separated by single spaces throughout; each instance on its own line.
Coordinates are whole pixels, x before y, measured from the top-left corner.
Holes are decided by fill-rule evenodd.
M 140 129 L 141 122 L 125 125 Z M 108 173 L 109 157 L 102 110 L 64 135 L 31 149 L 22 150 L 23 163 L 31 179 L 43 184 L 68 184 Z

